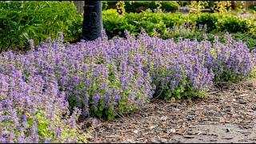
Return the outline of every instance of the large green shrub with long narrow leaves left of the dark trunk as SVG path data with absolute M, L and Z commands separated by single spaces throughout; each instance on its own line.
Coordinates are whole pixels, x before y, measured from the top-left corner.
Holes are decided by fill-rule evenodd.
M 73 2 L 0 2 L 0 10 L 1 50 L 24 50 L 30 38 L 38 44 L 57 38 L 58 31 L 72 42 L 81 33 L 82 16 Z

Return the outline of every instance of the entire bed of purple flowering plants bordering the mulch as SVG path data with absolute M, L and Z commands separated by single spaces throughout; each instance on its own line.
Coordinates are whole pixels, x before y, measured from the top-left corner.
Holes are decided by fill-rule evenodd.
M 112 119 L 158 95 L 204 97 L 214 82 L 246 77 L 255 62 L 228 34 L 226 43 L 213 44 L 143 31 L 76 44 L 59 36 L 26 54 L 0 56 L 0 142 L 79 142 L 86 136 L 78 116 Z

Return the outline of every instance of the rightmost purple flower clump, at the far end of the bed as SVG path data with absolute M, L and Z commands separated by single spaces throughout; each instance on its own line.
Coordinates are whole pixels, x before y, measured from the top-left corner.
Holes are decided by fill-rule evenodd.
M 202 65 L 214 73 L 214 82 L 237 82 L 250 74 L 256 56 L 245 42 L 234 41 L 230 34 L 225 34 L 225 40 L 221 43 L 216 36 L 213 43 L 206 37 L 202 42 L 185 39 L 178 43 L 180 50 L 202 59 Z

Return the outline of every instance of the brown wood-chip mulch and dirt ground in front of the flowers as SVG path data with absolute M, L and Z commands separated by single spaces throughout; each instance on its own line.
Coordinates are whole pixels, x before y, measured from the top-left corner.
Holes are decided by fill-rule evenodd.
M 256 143 L 256 80 L 222 84 L 201 100 L 150 102 L 114 121 L 99 120 L 91 142 Z

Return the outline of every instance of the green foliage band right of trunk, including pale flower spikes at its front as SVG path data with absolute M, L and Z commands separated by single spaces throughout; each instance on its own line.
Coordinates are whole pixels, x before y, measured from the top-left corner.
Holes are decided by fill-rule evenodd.
M 159 35 L 161 38 L 179 37 L 197 38 L 202 41 L 203 34 L 213 42 L 214 35 L 218 35 L 223 41 L 224 32 L 231 33 L 234 40 L 242 40 L 247 46 L 254 49 L 256 36 L 254 27 L 249 20 L 238 18 L 233 14 L 165 14 L 153 13 L 150 10 L 142 13 L 130 13 L 120 15 L 114 9 L 105 10 L 102 13 L 103 26 L 106 34 L 114 36 L 124 36 L 123 31 L 128 30 L 130 34 L 137 35 L 141 29 L 145 29 L 150 36 Z M 205 27 L 206 25 L 206 27 Z

